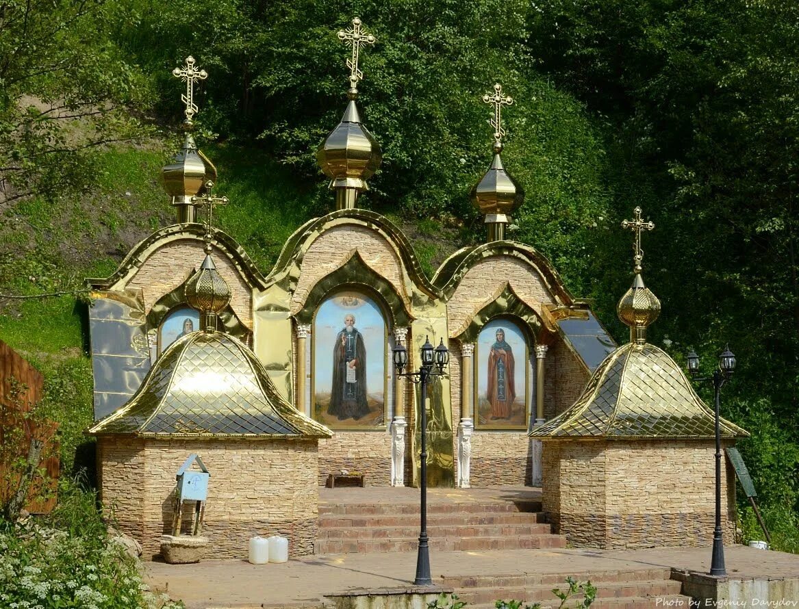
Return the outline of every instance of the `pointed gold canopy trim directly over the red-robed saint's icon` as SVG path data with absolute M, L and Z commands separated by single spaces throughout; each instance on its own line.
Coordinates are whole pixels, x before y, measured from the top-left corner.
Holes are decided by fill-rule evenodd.
M 539 314 L 532 306 L 516 294 L 507 281 L 486 303 L 480 305 L 467 322 L 450 334 L 460 342 L 477 342 L 480 331 L 491 319 L 498 317 L 516 318 L 522 322 L 536 343 L 549 343 L 557 331 L 555 323 L 546 311 Z

